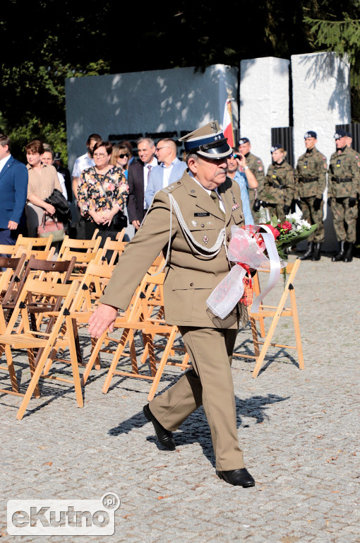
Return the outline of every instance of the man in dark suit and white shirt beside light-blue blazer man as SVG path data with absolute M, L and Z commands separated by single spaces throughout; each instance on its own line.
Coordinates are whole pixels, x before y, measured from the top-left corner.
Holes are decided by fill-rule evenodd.
M 145 190 L 148 185 L 150 170 L 157 166 L 155 143 L 151 138 L 137 141 L 140 161 L 133 162 L 128 168 L 128 220 L 138 230 L 146 213 Z

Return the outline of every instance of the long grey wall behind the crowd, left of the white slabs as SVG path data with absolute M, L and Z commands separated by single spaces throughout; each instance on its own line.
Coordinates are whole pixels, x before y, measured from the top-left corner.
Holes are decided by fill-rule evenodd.
M 88 76 L 66 80 L 68 164 L 85 153 L 88 135 L 191 132 L 217 119 L 222 124 L 227 89 L 238 94 L 238 69 L 223 64 Z M 237 119 L 237 106 L 234 117 Z M 120 138 L 119 138 L 120 139 Z M 114 138 L 114 141 L 119 141 Z M 126 138 L 128 139 L 128 138 Z

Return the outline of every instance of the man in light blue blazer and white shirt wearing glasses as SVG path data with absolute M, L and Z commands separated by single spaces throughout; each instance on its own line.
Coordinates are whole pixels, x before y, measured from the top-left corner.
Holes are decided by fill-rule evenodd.
M 180 179 L 186 170 L 186 163 L 176 157 L 176 143 L 165 138 L 157 142 L 155 155 L 160 165 L 150 172 L 148 187 L 145 190 L 145 202 L 149 207 L 155 192 Z

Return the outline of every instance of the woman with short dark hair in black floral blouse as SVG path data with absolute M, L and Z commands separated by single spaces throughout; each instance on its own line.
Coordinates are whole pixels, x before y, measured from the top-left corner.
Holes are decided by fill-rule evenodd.
M 122 228 L 126 228 L 124 206 L 128 198 L 128 185 L 121 168 L 109 164 L 112 144 L 97 141 L 92 151 L 95 166 L 83 170 L 78 185 L 78 206 L 85 222 L 85 238 L 92 238 L 99 228 L 103 240 L 115 239 Z M 119 213 L 120 212 L 120 213 Z M 114 217 L 122 216 L 121 224 L 114 226 Z M 119 216 L 116 217 L 118 221 Z

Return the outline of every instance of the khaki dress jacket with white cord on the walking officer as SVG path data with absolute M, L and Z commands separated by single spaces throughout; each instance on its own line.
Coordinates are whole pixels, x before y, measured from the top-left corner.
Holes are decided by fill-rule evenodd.
M 210 293 L 230 269 L 224 245 L 219 254 L 210 259 L 196 254 L 181 230 L 174 209 L 170 214 L 169 194 L 172 194 L 198 243 L 212 247 L 224 227 L 229 243 L 232 225 L 244 225 L 240 188 L 227 177 L 219 187 L 219 193 L 225 215 L 208 192 L 186 172 L 181 180 L 157 192 L 145 221 L 119 257 L 101 302 L 123 310 L 128 307 L 133 292 L 154 259 L 160 252 L 167 252 L 172 216 L 171 250 L 164 280 L 166 322 L 178 326 L 235 328 L 240 316 L 245 324 L 248 317 L 244 305 L 239 305 L 224 320 L 215 317 L 206 305 Z

